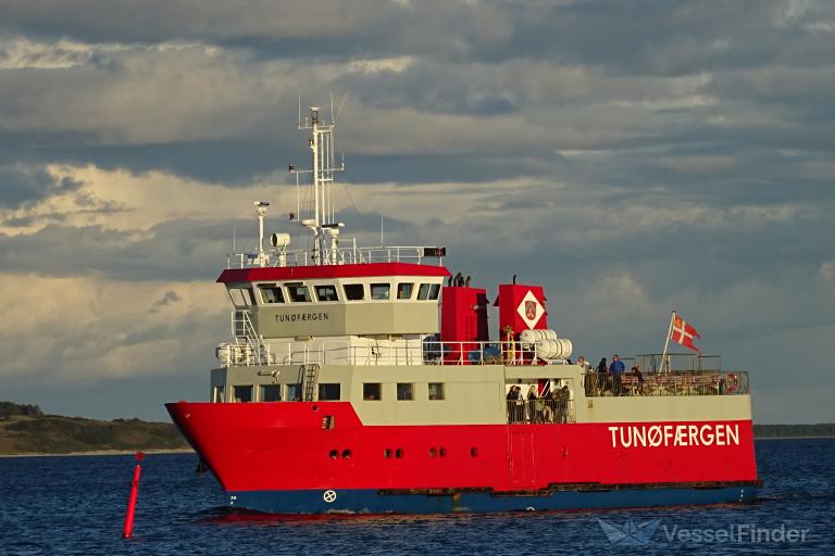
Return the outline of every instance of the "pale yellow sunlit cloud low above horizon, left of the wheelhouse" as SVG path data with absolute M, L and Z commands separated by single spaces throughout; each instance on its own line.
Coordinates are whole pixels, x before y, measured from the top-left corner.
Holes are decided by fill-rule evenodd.
M 3 381 L 37 375 L 41 384 L 161 376 L 208 363 L 223 329 L 225 294 L 211 281 L 121 282 L 96 277 L 0 276 Z M 172 303 L 174 296 L 179 302 Z M 164 311 L 149 312 L 160 299 Z M 207 340 L 208 339 L 208 340 Z

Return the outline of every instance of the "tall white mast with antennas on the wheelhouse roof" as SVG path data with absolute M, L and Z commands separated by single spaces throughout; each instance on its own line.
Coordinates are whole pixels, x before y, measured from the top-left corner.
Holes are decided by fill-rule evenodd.
M 301 101 L 299 101 L 301 106 Z M 345 170 L 345 162 L 336 166 L 334 160 L 334 128 L 333 110 L 329 122 L 320 117 L 321 109 L 310 106 L 309 115 L 301 121 L 299 111 L 298 129 L 310 129 L 308 141 L 311 151 L 311 169 L 297 170 L 290 165 L 292 174 L 313 174 L 313 207 L 312 218 L 301 220 L 301 225 L 313 232 L 313 261 L 316 265 L 336 264 L 339 228 L 345 224 L 335 222 L 334 207 L 334 174 Z M 326 242 L 329 240 L 329 243 Z M 329 255 L 329 256 L 328 256 Z

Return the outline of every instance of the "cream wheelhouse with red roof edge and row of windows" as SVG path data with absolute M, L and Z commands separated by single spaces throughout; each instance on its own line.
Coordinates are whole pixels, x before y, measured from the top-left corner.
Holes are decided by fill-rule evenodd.
M 438 332 L 449 275 L 402 262 L 228 268 L 217 281 L 234 305 L 235 343 L 219 355 L 226 364 L 304 364 L 327 346 L 333 363 L 350 363 L 356 349 L 381 354 L 381 341 L 420 354 L 422 340 Z

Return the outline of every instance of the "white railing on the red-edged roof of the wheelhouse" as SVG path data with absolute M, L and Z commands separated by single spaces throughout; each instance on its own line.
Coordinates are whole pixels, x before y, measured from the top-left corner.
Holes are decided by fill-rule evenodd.
M 361 248 L 353 245 L 336 250 L 270 250 L 264 253 L 237 252 L 226 254 L 226 268 L 257 268 L 262 266 L 317 266 L 348 265 L 361 263 L 415 263 L 423 264 L 427 258 L 443 265 L 446 250 L 429 245 L 378 245 Z

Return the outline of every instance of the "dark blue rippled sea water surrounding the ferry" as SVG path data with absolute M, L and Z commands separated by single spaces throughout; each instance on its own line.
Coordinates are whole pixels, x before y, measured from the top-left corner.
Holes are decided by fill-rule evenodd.
M 835 439 L 757 441 L 756 503 L 450 516 L 230 511 L 194 454 L 0 458 L 0 554 L 835 554 Z M 802 535 L 802 538 L 801 538 Z

